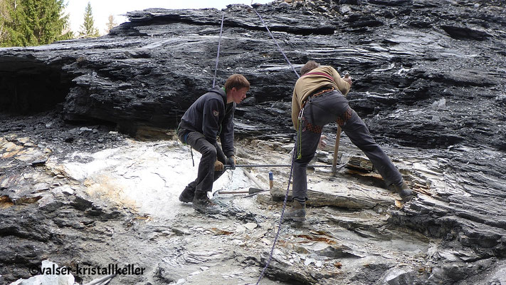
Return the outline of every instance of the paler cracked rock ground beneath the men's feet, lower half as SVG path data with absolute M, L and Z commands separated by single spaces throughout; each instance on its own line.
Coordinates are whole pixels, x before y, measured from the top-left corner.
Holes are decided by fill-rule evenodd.
M 223 211 L 205 216 L 177 198 L 196 175 L 189 147 L 180 142 L 132 140 L 100 125 L 67 125 L 52 113 L 18 117 L 12 125 L 21 122 L 53 125 L 0 140 L 3 282 L 27 279 L 31 266 L 51 260 L 70 269 L 134 264 L 145 270 L 111 284 L 255 284 L 278 231 L 288 167 L 228 170 L 214 192 L 259 187 L 245 170 L 264 189 L 272 170 L 273 190 L 254 197 L 216 193 Z M 289 140 L 238 140 L 238 163 L 285 164 L 292 146 Z M 332 149 L 330 143 L 318 150 L 312 163 L 332 163 Z M 463 149 L 385 150 L 418 197 L 401 204 L 343 136 L 339 164 L 346 166 L 336 175 L 327 167 L 309 170 L 307 221 L 282 224 L 262 284 L 505 280 L 504 181 L 495 181 L 496 196 L 487 203 L 497 204 L 487 207 L 479 202 L 490 197 L 482 187 L 493 183 L 473 175 L 477 166 L 461 168 L 456 161 Z M 101 277 L 74 276 L 84 283 Z

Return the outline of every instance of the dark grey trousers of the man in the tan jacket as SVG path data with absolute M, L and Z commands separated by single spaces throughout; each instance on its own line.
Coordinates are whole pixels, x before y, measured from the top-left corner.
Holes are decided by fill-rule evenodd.
M 308 98 L 301 118 L 302 133 L 300 134 L 300 158 L 296 158 L 299 142 L 295 140 L 295 161 L 293 165 L 293 195 L 300 202 L 307 199 L 306 167 L 320 142 L 322 128 L 327 123 L 337 122 L 349 140 L 357 145 L 371 160 L 386 185 L 400 185 L 402 175 L 391 162 L 386 153 L 374 141 L 357 113 L 349 108 L 348 100 L 337 90 L 325 92 L 313 98 Z

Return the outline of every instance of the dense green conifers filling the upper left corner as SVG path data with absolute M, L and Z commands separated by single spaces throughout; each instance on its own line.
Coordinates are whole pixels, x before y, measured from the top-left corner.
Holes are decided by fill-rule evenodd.
M 73 38 L 63 0 L 3 0 L 0 46 L 37 46 Z M 66 33 L 63 31 L 67 30 Z

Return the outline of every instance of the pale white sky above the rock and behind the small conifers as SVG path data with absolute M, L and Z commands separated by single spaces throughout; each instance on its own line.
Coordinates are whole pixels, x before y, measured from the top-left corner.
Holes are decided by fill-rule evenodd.
M 201 9 L 201 8 L 226 8 L 228 4 L 250 5 L 251 0 L 66 0 L 65 14 L 69 15 L 70 28 L 78 34 L 84 21 L 84 13 L 88 1 L 91 4 L 95 28 L 101 35 L 105 34 L 105 28 L 109 15 L 114 16 L 115 23 L 121 24 L 128 21 L 122 16 L 129 11 L 144 10 L 148 8 L 166 9 Z M 273 0 L 253 0 L 253 3 L 267 4 Z

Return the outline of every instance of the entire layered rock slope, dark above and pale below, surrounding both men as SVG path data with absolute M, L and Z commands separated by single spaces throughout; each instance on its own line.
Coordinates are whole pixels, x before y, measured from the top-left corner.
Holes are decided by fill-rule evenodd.
M 309 171 L 307 222 L 282 225 L 261 284 L 506 283 L 505 4 L 255 7 L 296 68 L 317 59 L 352 75 L 350 105 L 418 193 L 397 201 L 343 135 L 347 166 Z M 252 83 L 239 161 L 289 163 L 296 76 L 251 8 L 224 11 L 217 82 Z M 290 169 L 273 169 L 274 191 L 216 195 L 214 216 L 177 199 L 196 167 L 172 128 L 212 85 L 221 15 L 134 11 L 101 38 L 0 49 L 0 283 L 46 259 L 145 268 L 111 284 L 256 283 Z M 332 163 L 328 136 L 315 163 Z M 248 171 L 268 185 L 267 169 Z M 234 170 L 214 190 L 249 187 Z

